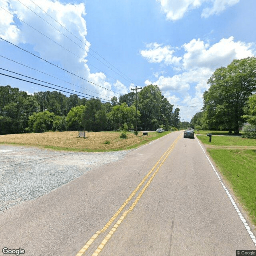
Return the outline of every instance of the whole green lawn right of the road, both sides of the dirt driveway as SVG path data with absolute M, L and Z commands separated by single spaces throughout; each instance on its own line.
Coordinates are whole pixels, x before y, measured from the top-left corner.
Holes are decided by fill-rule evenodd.
M 223 132 L 215 131 L 204 133 L 224 135 L 221 134 Z M 209 142 L 208 136 L 198 135 L 197 138 L 206 144 L 207 152 L 218 170 L 229 182 L 252 223 L 256 225 L 256 140 L 239 136 L 213 135 L 212 142 Z

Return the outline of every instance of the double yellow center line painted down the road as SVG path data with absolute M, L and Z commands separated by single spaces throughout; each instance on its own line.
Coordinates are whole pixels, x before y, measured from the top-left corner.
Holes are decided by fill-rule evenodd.
M 122 210 L 124 209 L 124 207 L 128 204 L 128 202 L 130 202 L 130 200 L 132 199 L 132 197 L 136 194 L 136 192 L 138 192 L 138 190 L 140 189 L 140 187 L 142 186 L 142 184 L 146 181 L 146 179 L 150 176 L 150 174 L 154 171 L 154 169 L 156 168 L 156 166 L 158 166 L 158 164 L 160 163 L 160 161 L 162 160 L 162 162 L 159 164 L 158 168 L 155 170 L 155 172 L 152 174 L 152 176 L 150 177 L 150 179 L 148 180 L 148 182 L 146 183 L 146 185 L 142 188 L 142 190 L 140 191 L 140 193 L 138 194 L 136 200 L 134 200 L 133 204 L 129 207 L 128 210 L 126 210 L 122 216 L 118 219 L 118 221 L 115 223 L 115 225 L 113 226 L 113 228 L 108 232 L 108 234 L 105 236 L 105 238 L 102 240 L 102 242 L 100 243 L 100 245 L 98 246 L 98 248 L 94 251 L 94 253 L 92 254 L 92 256 L 98 256 L 98 254 L 101 252 L 101 250 L 104 248 L 104 246 L 106 245 L 106 243 L 108 242 L 108 240 L 110 239 L 110 237 L 112 236 L 112 234 L 114 234 L 114 232 L 116 231 L 116 229 L 118 228 L 118 226 L 121 224 L 121 222 L 124 220 L 124 218 L 126 217 L 126 215 L 128 214 L 128 212 L 131 212 L 133 210 L 133 208 L 136 206 L 136 204 L 138 203 L 138 201 L 140 200 L 141 196 L 143 195 L 143 193 L 145 192 L 145 190 L 148 188 L 148 185 L 151 183 L 151 181 L 153 180 L 154 176 L 156 176 L 158 170 L 160 169 L 160 167 L 162 166 L 162 164 L 165 162 L 166 158 L 169 156 L 170 152 L 172 152 L 174 146 L 176 145 L 176 143 L 178 142 L 178 140 L 180 139 L 180 137 L 182 136 L 182 134 L 180 136 L 178 136 L 178 138 L 176 138 L 176 140 L 172 143 L 172 145 L 168 148 L 168 150 L 166 150 L 166 152 L 164 152 L 164 154 L 161 156 L 161 158 L 156 162 L 156 164 L 154 165 L 154 167 L 148 172 L 148 174 L 143 178 L 143 180 L 140 182 L 140 184 L 135 188 L 135 190 L 130 194 L 130 196 L 126 199 L 126 201 L 122 204 L 122 206 L 117 210 L 117 212 L 112 216 L 112 218 L 106 223 L 106 225 L 101 229 L 98 230 L 89 240 L 88 242 L 86 242 L 86 244 L 84 245 L 83 248 L 81 248 L 81 250 L 76 254 L 76 256 L 82 256 L 84 255 L 84 253 L 86 252 L 86 250 L 90 247 L 90 245 L 94 242 L 94 240 L 98 237 L 99 234 L 101 234 L 102 232 L 106 231 L 108 229 L 108 227 L 112 224 L 112 222 L 116 219 L 116 217 L 122 212 Z

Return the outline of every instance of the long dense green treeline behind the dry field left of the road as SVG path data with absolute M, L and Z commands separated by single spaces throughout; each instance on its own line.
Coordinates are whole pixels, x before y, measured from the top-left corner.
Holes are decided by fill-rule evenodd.
M 162 95 L 156 85 L 138 92 L 138 128 L 165 130 L 178 128 L 179 108 Z M 118 130 L 136 124 L 135 94 L 113 97 L 111 103 L 97 98 L 65 96 L 61 92 L 35 92 L 29 95 L 11 86 L 0 86 L 0 134 L 66 130 Z

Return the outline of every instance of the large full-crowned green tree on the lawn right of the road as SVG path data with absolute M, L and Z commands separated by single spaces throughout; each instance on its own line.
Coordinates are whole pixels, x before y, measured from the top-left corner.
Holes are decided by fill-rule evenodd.
M 234 127 L 234 133 L 239 134 L 243 107 L 256 90 L 256 58 L 233 60 L 226 68 L 217 68 L 208 84 L 210 88 L 203 95 L 205 121 L 230 131 Z

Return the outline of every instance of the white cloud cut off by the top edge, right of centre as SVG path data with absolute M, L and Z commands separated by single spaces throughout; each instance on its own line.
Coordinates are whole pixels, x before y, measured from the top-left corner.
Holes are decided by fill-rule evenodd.
M 160 2 L 163 12 L 166 14 L 167 20 L 179 20 L 184 17 L 186 12 L 208 5 L 202 10 L 202 17 L 207 18 L 213 14 L 219 14 L 239 0 L 156 0 Z

